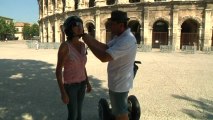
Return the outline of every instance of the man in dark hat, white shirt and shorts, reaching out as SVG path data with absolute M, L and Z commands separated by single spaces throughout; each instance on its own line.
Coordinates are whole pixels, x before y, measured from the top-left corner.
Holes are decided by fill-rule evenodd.
M 127 27 L 129 18 L 127 13 L 115 10 L 111 13 L 109 21 L 113 39 L 101 43 L 88 34 L 83 40 L 93 54 L 102 62 L 108 63 L 108 87 L 112 106 L 112 113 L 116 120 L 128 120 L 127 97 L 133 84 L 133 64 L 136 56 L 136 39 Z

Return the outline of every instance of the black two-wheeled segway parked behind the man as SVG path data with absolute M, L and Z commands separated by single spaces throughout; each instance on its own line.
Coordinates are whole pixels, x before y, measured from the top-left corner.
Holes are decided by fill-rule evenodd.
M 134 77 L 137 73 L 140 61 L 134 62 Z M 140 104 L 134 95 L 128 96 L 128 116 L 129 120 L 139 120 L 141 115 Z M 111 109 L 106 99 L 101 98 L 98 103 L 99 120 L 115 120 L 115 116 L 112 115 Z

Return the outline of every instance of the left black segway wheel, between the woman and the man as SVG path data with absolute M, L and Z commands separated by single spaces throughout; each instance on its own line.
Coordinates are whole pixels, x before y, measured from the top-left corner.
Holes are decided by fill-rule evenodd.
M 101 98 L 98 103 L 99 120 L 110 120 L 110 109 L 106 99 Z

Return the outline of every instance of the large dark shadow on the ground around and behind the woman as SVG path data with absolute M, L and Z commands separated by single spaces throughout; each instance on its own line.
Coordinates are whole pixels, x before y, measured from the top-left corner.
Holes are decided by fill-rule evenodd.
M 0 59 L 0 120 L 65 120 L 53 64 Z M 102 81 L 89 76 L 93 92 L 85 97 L 84 120 L 96 120 L 97 103 L 106 97 Z

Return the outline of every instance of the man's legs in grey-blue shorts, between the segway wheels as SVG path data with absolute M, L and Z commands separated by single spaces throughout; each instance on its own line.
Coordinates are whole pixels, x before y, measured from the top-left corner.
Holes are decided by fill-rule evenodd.
M 109 97 L 112 106 L 112 114 L 116 120 L 129 120 L 128 117 L 128 93 L 129 92 L 113 92 L 109 90 Z

